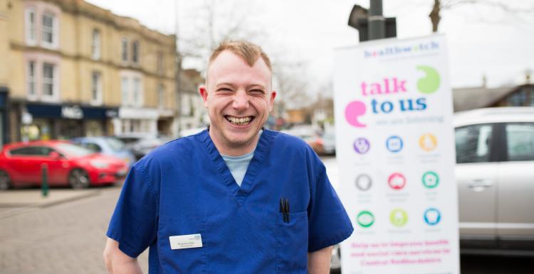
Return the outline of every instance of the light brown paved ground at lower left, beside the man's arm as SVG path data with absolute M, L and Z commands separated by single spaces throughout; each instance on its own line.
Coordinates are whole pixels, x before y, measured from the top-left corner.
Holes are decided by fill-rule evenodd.
M 95 190 L 100 194 L 53 206 L 28 206 L 28 212 L 0 218 L 0 273 L 107 273 L 102 258 L 107 239 L 105 233 L 120 187 L 81 191 L 52 189 L 50 194 Z M 144 273 L 147 273 L 147 254 L 145 251 L 139 258 Z

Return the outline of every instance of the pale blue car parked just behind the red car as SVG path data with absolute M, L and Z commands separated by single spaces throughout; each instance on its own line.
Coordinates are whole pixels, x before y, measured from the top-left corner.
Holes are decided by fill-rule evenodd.
M 114 137 L 78 137 L 72 138 L 70 141 L 89 150 L 93 150 L 95 153 L 120 158 L 126 162 L 128 167 L 131 167 L 137 160 L 133 153 L 127 150 L 125 143 Z

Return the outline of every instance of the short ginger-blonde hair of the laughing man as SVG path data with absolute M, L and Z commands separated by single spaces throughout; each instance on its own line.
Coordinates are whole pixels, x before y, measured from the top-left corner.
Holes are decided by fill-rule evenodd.
M 250 65 L 251 67 L 254 65 L 256 60 L 258 60 L 259 57 L 263 59 L 263 62 L 267 65 L 269 70 L 271 72 L 273 71 L 273 68 L 271 67 L 271 60 L 266 55 L 266 53 L 263 52 L 261 47 L 259 45 L 256 45 L 254 43 L 250 43 L 248 41 L 244 40 L 235 40 L 235 41 L 224 41 L 217 47 L 213 53 L 211 53 L 211 56 L 209 57 L 209 65 L 211 65 L 211 62 L 215 60 L 219 54 L 221 54 L 224 50 L 229 50 L 231 53 L 234 53 L 235 55 L 238 55 L 239 57 L 243 58 L 245 62 Z

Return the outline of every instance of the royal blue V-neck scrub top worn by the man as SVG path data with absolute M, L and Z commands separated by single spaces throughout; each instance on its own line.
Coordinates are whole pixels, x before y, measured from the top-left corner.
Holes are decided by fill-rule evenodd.
M 290 218 L 280 212 L 288 199 Z M 149 273 L 307 273 L 308 252 L 353 228 L 325 166 L 303 141 L 263 131 L 239 187 L 208 131 L 155 149 L 127 175 L 108 229 Z M 201 234 L 171 249 L 169 236 Z

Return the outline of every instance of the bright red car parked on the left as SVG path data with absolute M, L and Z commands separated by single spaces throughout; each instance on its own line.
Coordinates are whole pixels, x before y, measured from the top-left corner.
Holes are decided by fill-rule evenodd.
M 67 141 L 32 141 L 5 145 L 0 153 L 0 190 L 17 185 L 41 185 L 42 169 L 48 185 L 112 184 L 127 173 L 124 160 L 94 153 Z

